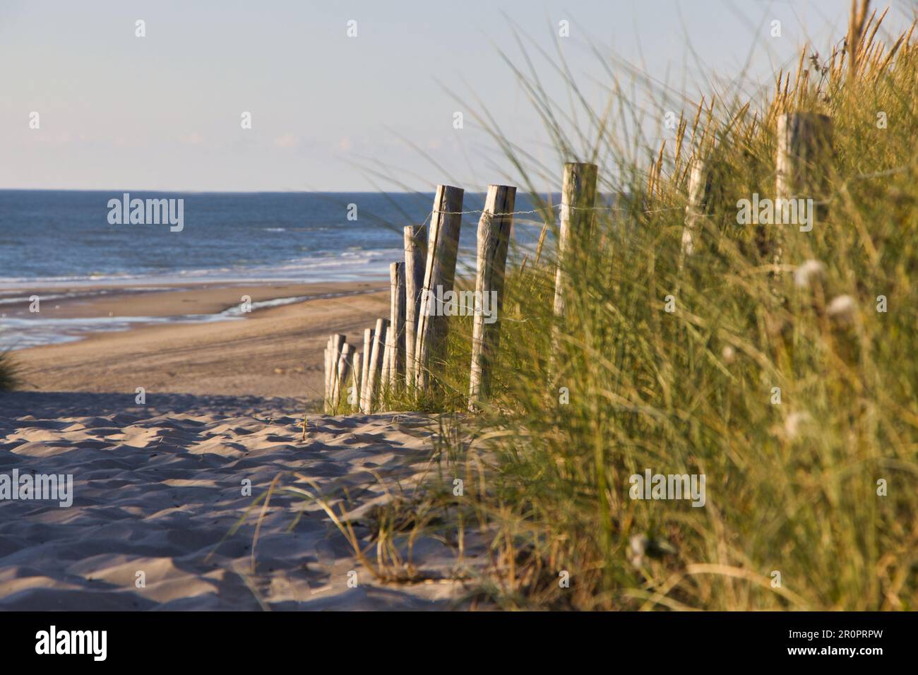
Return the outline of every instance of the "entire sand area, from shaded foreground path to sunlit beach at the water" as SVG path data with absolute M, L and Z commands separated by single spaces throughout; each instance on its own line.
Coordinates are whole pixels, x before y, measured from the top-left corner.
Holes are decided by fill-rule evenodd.
M 385 312 L 379 287 L 115 289 L 56 309 L 173 316 L 218 312 L 242 294 L 313 298 L 16 352 L 24 386 L 0 394 L 0 474 L 70 475 L 73 504 L 0 501 L 0 609 L 452 606 L 463 591 L 442 580 L 455 571 L 452 547 L 422 539 L 413 564 L 426 581 L 380 583 L 308 498 L 355 513 L 368 546 L 367 510 L 429 468 L 431 421 L 417 415 L 308 414 L 304 437 L 326 337 L 356 335 Z M 267 510 L 247 512 L 275 478 Z

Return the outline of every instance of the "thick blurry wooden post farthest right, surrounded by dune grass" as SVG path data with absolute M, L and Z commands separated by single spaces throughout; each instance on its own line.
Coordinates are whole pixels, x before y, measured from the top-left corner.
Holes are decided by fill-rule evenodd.
M 775 161 L 775 213 L 796 213 L 800 218 L 800 209 L 785 208 L 790 206 L 790 199 L 812 199 L 813 202 L 824 202 L 829 196 L 829 166 L 832 158 L 833 129 L 832 118 L 818 113 L 787 113 L 778 117 L 778 156 Z M 812 202 L 806 202 L 808 205 Z M 828 209 L 816 208 L 805 215 L 811 220 L 800 231 L 809 231 L 813 220 L 823 219 Z M 776 218 L 777 219 L 777 218 Z M 759 225 L 761 228 L 762 225 Z M 776 225 L 777 244 L 774 247 L 772 262 L 775 270 L 783 263 L 784 248 L 788 236 L 788 224 Z M 800 225 L 798 225 L 800 227 Z M 760 241 L 771 238 L 760 236 Z

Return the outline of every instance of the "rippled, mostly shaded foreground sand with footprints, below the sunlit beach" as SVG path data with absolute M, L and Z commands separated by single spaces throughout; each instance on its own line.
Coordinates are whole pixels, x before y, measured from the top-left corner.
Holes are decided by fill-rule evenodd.
M 284 491 L 265 513 L 254 569 L 261 507 L 228 536 L 278 473 L 279 486 L 321 492 L 330 504 L 347 489 L 353 512 L 410 488 L 431 455 L 425 418 L 311 415 L 302 441 L 301 399 L 171 394 L 148 403 L 0 395 L 0 474 L 73 474 L 70 507 L 0 501 L 0 609 L 429 609 L 461 597 L 457 582 L 377 582 L 316 501 Z M 414 564 L 449 576 L 456 553 L 422 540 Z

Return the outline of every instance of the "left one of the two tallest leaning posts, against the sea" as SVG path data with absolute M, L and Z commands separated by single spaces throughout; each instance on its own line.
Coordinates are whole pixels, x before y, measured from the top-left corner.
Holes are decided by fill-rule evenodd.
M 415 341 L 415 383 L 425 389 L 431 381 L 431 360 L 442 354 L 442 343 L 449 328 L 449 317 L 443 316 L 439 293 L 453 290 L 456 253 L 459 251 L 459 228 L 462 225 L 461 187 L 437 186 L 433 198 L 427 264 L 418 314 L 418 336 Z

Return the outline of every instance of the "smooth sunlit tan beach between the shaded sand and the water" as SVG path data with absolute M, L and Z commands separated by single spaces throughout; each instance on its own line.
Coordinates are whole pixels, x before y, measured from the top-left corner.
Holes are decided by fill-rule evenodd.
M 253 309 L 235 321 L 159 323 L 97 332 L 78 342 L 16 352 L 22 388 L 38 391 L 156 392 L 296 397 L 322 394 L 322 350 L 331 332 L 363 335 L 388 311 L 378 282 L 280 286 L 181 287 L 112 292 L 45 303 L 54 318 L 169 317 L 216 314 L 274 298 L 313 298 Z M 385 289 L 385 290 L 384 290 Z M 38 291 L 39 294 L 41 291 Z M 58 306 L 55 308 L 55 304 Z

